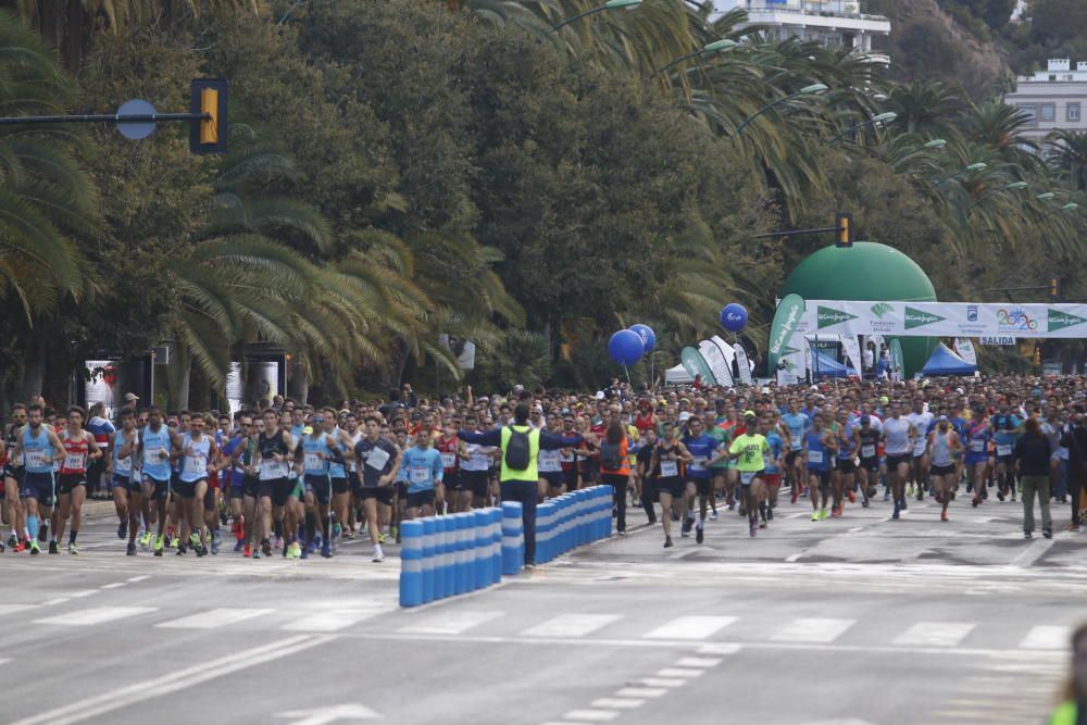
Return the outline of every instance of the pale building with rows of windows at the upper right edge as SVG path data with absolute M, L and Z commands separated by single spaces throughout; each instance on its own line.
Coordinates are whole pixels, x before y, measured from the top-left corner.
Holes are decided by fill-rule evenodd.
M 1019 76 L 1014 92 L 1005 95 L 1004 102 L 1030 117 L 1023 136 L 1032 140 L 1041 140 L 1057 129 L 1087 132 L 1087 62 L 1050 60 L 1045 71 Z

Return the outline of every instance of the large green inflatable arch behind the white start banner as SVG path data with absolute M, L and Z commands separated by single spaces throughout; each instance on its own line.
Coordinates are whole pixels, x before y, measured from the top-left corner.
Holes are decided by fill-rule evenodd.
M 780 297 L 795 292 L 805 300 L 935 302 L 936 289 L 916 262 L 873 241 L 851 248 L 825 247 L 802 261 L 782 285 Z M 885 338 L 890 341 L 890 337 Z M 900 337 L 905 377 L 928 362 L 932 337 Z

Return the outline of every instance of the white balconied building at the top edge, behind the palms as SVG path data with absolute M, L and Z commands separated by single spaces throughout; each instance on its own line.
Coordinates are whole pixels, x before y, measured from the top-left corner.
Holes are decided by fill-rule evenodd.
M 890 21 L 862 13 L 860 0 L 713 0 L 713 4 L 719 13 L 742 8 L 748 24 L 765 26 L 776 38 L 819 40 L 852 48 L 876 63 L 890 62 L 872 49 L 873 38 L 890 35 Z

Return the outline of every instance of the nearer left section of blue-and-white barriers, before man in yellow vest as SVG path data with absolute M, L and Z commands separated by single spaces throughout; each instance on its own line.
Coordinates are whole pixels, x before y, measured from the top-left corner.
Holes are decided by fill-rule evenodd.
M 502 578 L 501 509 L 405 521 L 400 541 L 401 607 L 475 591 Z

